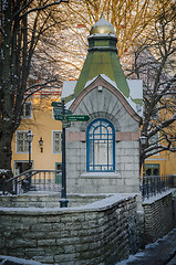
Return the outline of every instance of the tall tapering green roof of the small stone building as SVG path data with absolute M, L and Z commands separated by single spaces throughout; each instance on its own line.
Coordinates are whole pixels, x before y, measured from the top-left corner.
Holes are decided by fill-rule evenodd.
M 107 22 L 101 19 L 96 25 L 96 32 L 102 32 L 103 24 L 107 24 Z M 107 28 L 105 28 L 105 32 L 89 36 L 89 54 L 76 83 L 74 95 L 65 98 L 66 102 L 75 98 L 84 89 L 86 82 L 100 74 L 105 74 L 114 81 L 125 97 L 130 96 L 130 87 L 117 56 L 116 35 L 112 34 L 112 26 L 110 26 L 110 33 L 107 33 Z

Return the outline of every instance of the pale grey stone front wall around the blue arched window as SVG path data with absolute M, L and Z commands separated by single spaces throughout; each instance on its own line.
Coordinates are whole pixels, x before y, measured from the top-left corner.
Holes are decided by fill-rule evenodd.
M 66 128 L 68 191 L 70 193 L 139 192 L 138 120 L 134 114 L 127 112 L 127 106 L 120 100 L 113 87 L 105 81 L 96 81 L 87 89 L 77 106 L 73 106 L 72 112 L 74 115 L 89 115 L 90 120 L 72 123 L 72 126 Z M 86 171 L 86 128 L 92 120 L 99 118 L 110 120 L 115 129 L 115 172 Z

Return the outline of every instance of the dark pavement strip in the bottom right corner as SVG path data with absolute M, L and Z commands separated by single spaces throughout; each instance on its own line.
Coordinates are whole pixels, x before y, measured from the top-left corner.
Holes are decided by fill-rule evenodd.
M 176 229 L 116 265 L 176 265 Z

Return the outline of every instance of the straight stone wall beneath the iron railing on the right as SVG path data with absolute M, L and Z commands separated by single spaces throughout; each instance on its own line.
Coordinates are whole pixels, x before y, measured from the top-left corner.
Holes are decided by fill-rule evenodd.
M 143 203 L 145 216 L 145 243 L 155 242 L 174 229 L 172 191 L 151 198 Z

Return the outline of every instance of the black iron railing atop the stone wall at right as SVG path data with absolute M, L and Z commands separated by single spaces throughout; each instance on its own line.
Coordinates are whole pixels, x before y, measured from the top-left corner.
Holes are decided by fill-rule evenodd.
M 176 187 L 174 174 L 146 176 L 141 179 L 141 192 L 143 200 Z

